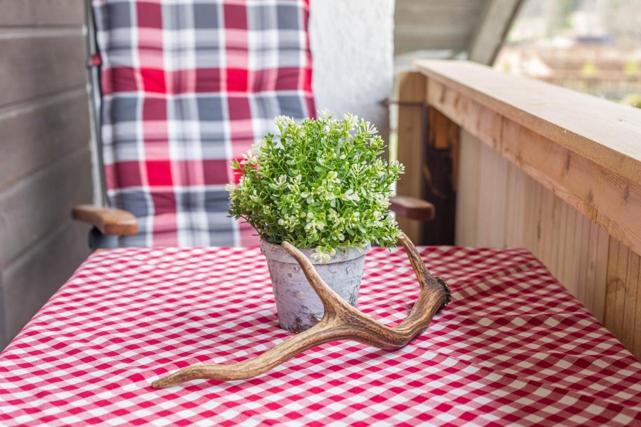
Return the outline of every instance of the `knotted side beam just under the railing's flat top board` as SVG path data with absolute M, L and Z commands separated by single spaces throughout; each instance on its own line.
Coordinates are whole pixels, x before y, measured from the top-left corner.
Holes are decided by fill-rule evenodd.
M 641 253 L 641 184 L 529 130 L 438 81 L 429 102 L 565 202 Z M 633 110 L 632 108 L 630 110 Z M 641 151 L 641 150 L 639 150 Z

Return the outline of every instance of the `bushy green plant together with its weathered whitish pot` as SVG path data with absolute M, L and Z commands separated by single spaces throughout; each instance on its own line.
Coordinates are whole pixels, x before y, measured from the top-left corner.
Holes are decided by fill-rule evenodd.
M 240 162 L 238 185 L 229 184 L 229 213 L 261 237 L 278 321 L 300 332 L 317 323 L 322 303 L 281 242 L 315 264 L 337 294 L 356 305 L 370 244 L 395 246 L 396 221 L 388 212 L 392 184 L 403 165 L 381 158 L 385 143 L 370 122 L 345 114 L 296 124 L 276 118 L 278 138 L 267 135 Z

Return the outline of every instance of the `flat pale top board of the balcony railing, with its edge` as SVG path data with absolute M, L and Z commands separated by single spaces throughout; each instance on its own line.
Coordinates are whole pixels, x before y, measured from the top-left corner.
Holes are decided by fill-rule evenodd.
M 414 65 L 429 79 L 641 183 L 640 109 L 473 62 L 417 60 Z M 435 105 L 433 96 L 428 88 L 430 105 Z

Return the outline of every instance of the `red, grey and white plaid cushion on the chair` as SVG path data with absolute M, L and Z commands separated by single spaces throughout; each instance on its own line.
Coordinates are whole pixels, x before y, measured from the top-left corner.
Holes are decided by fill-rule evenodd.
M 121 246 L 256 244 L 227 217 L 229 166 L 312 116 L 308 0 L 93 0 L 110 205 L 138 217 Z

